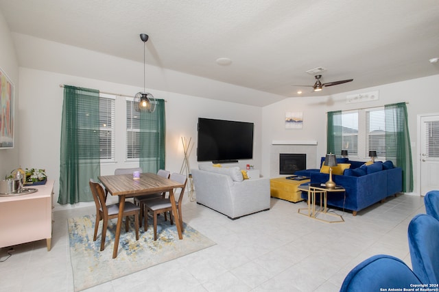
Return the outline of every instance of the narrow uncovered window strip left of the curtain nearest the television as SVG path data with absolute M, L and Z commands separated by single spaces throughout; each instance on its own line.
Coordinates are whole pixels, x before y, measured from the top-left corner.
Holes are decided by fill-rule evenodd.
M 126 159 L 139 159 L 140 153 L 140 113 L 136 111 L 132 99 L 126 101 Z

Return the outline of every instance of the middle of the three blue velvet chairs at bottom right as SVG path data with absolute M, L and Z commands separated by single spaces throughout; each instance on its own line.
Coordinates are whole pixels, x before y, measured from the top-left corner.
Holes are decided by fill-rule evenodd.
M 424 283 L 439 282 L 439 221 L 418 214 L 408 228 L 412 269 Z

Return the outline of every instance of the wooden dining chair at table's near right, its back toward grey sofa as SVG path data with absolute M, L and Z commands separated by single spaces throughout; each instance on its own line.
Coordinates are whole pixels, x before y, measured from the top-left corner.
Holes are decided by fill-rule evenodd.
M 183 187 L 180 190 L 180 194 L 178 196 L 178 199 L 176 199 L 176 207 L 177 207 L 177 211 L 178 211 L 178 220 L 180 220 L 180 226 L 182 226 L 183 224 L 183 220 L 182 220 L 182 199 L 185 196 L 185 187 L 186 187 L 186 183 L 187 183 L 187 177 L 183 174 L 177 174 L 177 173 L 173 173 L 171 174 L 171 176 L 169 177 L 169 179 L 171 179 L 171 181 L 176 181 L 178 183 L 181 183 L 183 185 Z M 145 214 L 143 215 L 143 217 L 145 218 L 145 231 L 147 230 L 147 218 L 148 218 L 148 211 L 152 211 L 153 215 L 152 217 L 154 218 L 154 241 L 157 240 L 157 215 L 160 213 L 166 213 L 167 211 L 169 211 L 169 217 L 170 217 L 170 221 L 171 224 L 174 224 L 173 222 L 173 216 L 172 216 L 172 204 L 171 204 L 171 200 L 170 198 L 158 198 L 158 199 L 154 199 L 154 200 L 145 200 L 143 202 L 144 206 L 145 206 Z M 166 217 L 165 217 L 166 220 Z

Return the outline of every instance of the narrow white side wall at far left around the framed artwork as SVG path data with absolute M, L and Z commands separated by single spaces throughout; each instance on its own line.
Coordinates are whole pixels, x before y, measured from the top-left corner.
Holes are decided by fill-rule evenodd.
M 14 43 L 5 18 L 0 11 L 0 68 L 14 83 L 14 148 L 0 149 L 0 179 L 5 178 L 12 170 L 19 168 L 19 64 L 16 59 Z

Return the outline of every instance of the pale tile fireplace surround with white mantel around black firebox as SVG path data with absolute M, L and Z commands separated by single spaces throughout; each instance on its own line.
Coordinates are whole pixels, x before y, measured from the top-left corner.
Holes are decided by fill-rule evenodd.
M 270 177 L 283 176 L 279 174 L 281 153 L 306 154 L 307 168 L 317 168 L 317 141 L 273 141 L 270 148 Z

